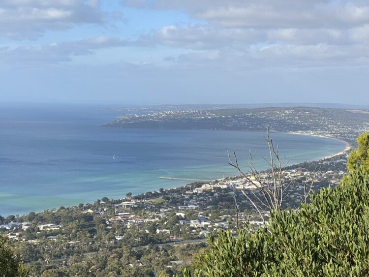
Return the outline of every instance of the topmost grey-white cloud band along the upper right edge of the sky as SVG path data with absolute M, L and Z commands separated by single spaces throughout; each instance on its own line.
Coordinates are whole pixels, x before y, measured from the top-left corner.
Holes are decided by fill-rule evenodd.
M 369 22 L 369 2 L 363 0 L 125 0 L 123 5 L 184 10 L 233 28 L 336 28 Z

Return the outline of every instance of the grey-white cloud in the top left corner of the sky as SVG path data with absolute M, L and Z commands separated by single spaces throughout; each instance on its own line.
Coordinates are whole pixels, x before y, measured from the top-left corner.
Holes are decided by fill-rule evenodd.
M 0 36 L 34 39 L 47 30 L 102 24 L 99 0 L 1 0 Z

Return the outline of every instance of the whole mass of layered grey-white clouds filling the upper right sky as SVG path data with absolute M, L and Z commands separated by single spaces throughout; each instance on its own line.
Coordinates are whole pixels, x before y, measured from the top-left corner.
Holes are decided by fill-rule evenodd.
M 192 50 L 176 59 L 182 65 L 237 70 L 358 65 L 369 60 L 365 0 L 125 0 L 123 5 L 182 10 L 205 22 L 166 26 L 138 39 L 138 45 Z

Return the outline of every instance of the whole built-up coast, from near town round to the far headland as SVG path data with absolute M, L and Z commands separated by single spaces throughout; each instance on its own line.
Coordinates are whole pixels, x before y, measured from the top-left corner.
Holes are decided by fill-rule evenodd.
M 270 132 L 326 136 L 346 143 L 345 150 L 330 157 L 280 167 L 280 208 L 296 210 L 308 203 L 310 193 L 341 182 L 349 151 L 358 134 L 367 130 L 369 113 L 306 107 L 176 110 L 125 115 L 105 127 L 265 131 L 267 123 Z M 0 216 L 0 232 L 10 239 L 31 276 L 48 276 L 53 270 L 66 270 L 70 276 L 173 276 L 196 263 L 197 253 L 219 231 L 237 236 L 240 228 L 253 232 L 268 224 L 271 209 L 258 207 L 263 204 L 262 188 L 276 182 L 275 176 L 270 167 L 255 172 L 249 166 L 233 177 L 188 179 L 192 183 L 170 189 Z

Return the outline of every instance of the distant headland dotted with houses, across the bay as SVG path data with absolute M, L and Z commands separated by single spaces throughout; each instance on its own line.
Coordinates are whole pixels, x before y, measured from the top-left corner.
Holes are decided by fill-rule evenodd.
M 311 107 L 175 110 L 127 114 L 105 124 L 112 128 L 214 129 L 297 132 L 355 143 L 368 129 L 369 112 Z

